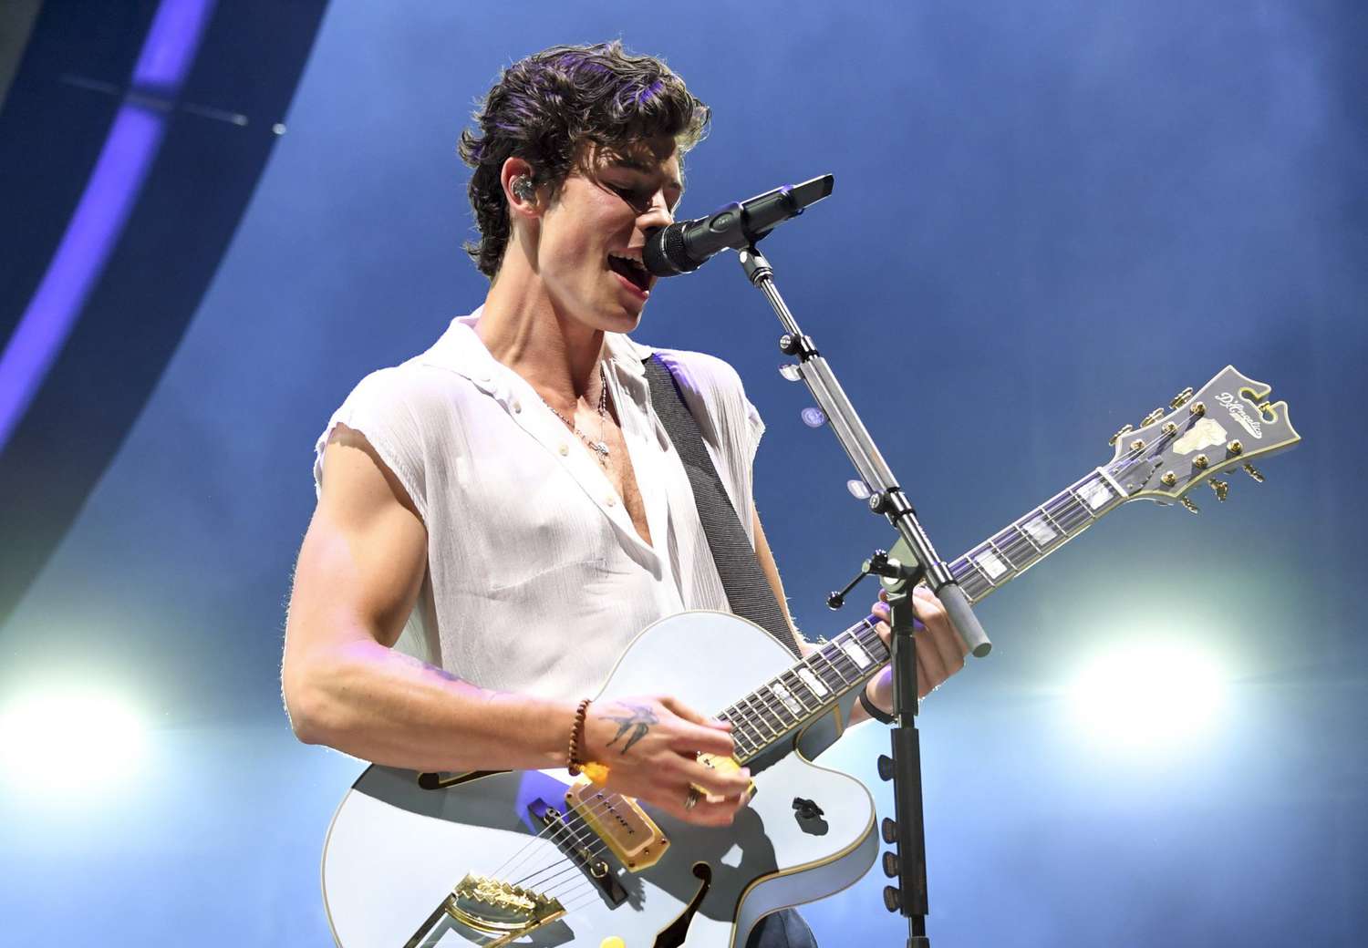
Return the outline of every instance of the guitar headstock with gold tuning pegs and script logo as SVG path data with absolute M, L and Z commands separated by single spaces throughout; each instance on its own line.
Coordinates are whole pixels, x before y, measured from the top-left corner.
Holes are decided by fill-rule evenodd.
M 1242 468 L 1263 482 L 1253 460 L 1301 440 L 1287 420 L 1287 402 L 1270 402 L 1270 391 L 1227 365 L 1200 391 L 1185 389 L 1140 427 L 1112 435 L 1116 456 L 1105 471 L 1126 499 L 1182 501 L 1196 513 L 1185 494 L 1207 480 L 1224 501 L 1227 483 L 1216 475 Z

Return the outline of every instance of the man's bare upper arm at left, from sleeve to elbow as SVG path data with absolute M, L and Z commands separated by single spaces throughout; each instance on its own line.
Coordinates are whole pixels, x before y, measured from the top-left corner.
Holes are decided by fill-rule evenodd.
M 323 456 L 323 484 L 294 573 L 291 658 L 365 635 L 393 646 L 427 570 L 427 529 L 365 436 L 345 425 Z

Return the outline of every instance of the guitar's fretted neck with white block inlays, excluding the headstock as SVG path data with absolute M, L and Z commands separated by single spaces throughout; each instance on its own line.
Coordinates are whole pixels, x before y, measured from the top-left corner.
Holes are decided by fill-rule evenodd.
M 1097 468 L 951 562 L 951 576 L 970 602 L 978 602 L 1124 501 L 1120 484 Z M 822 717 L 888 661 L 888 648 L 870 618 L 821 643 L 803 661 L 717 715 L 732 724 L 736 758 L 746 763 Z

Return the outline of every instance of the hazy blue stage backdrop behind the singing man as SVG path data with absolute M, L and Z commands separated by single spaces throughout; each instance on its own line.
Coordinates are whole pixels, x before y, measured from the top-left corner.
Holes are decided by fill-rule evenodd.
M 363 765 L 297 744 L 278 683 L 312 445 L 483 297 L 456 157 L 475 97 L 546 45 L 620 37 L 714 108 L 681 213 L 836 175 L 766 250 L 947 558 L 1227 364 L 1304 438 L 1268 483 L 1201 487 L 1196 517 L 1127 505 L 982 605 L 993 654 L 921 718 L 936 943 L 1357 944 L 1364 25 L 1347 0 L 335 0 L 179 350 L 0 632 L 7 694 L 98 687 L 149 722 L 137 759 L 90 770 L 77 743 L 60 791 L 5 787 L 3 940 L 330 944 L 317 859 Z M 825 595 L 892 536 L 800 420 L 777 335 L 731 254 L 662 283 L 637 332 L 739 369 L 815 636 L 854 621 L 865 594 L 834 616 Z M 1099 739 L 1075 680 L 1153 644 L 1179 657 L 1142 683 L 1150 714 L 1205 661 L 1209 717 Z M 867 725 L 824 763 L 892 815 L 885 741 Z M 903 944 L 884 882 L 804 910 L 825 947 Z

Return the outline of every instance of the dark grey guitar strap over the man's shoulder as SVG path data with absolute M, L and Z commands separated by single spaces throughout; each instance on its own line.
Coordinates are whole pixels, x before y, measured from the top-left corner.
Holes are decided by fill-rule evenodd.
M 713 466 L 713 458 L 707 454 L 698 420 L 684 404 L 679 380 L 659 356 L 653 354 L 643 361 L 643 365 L 651 389 L 651 406 L 665 425 L 665 432 L 670 436 L 680 460 L 684 461 L 688 483 L 694 488 L 698 518 L 703 524 L 703 535 L 713 551 L 717 575 L 722 579 L 726 602 L 735 614 L 751 620 L 795 657 L 802 658 L 788 620 L 784 618 L 774 591 L 765 579 L 759 559 L 755 558 L 755 547 L 746 538 L 741 518 L 736 516 L 736 508 L 732 506 L 722 479 Z

